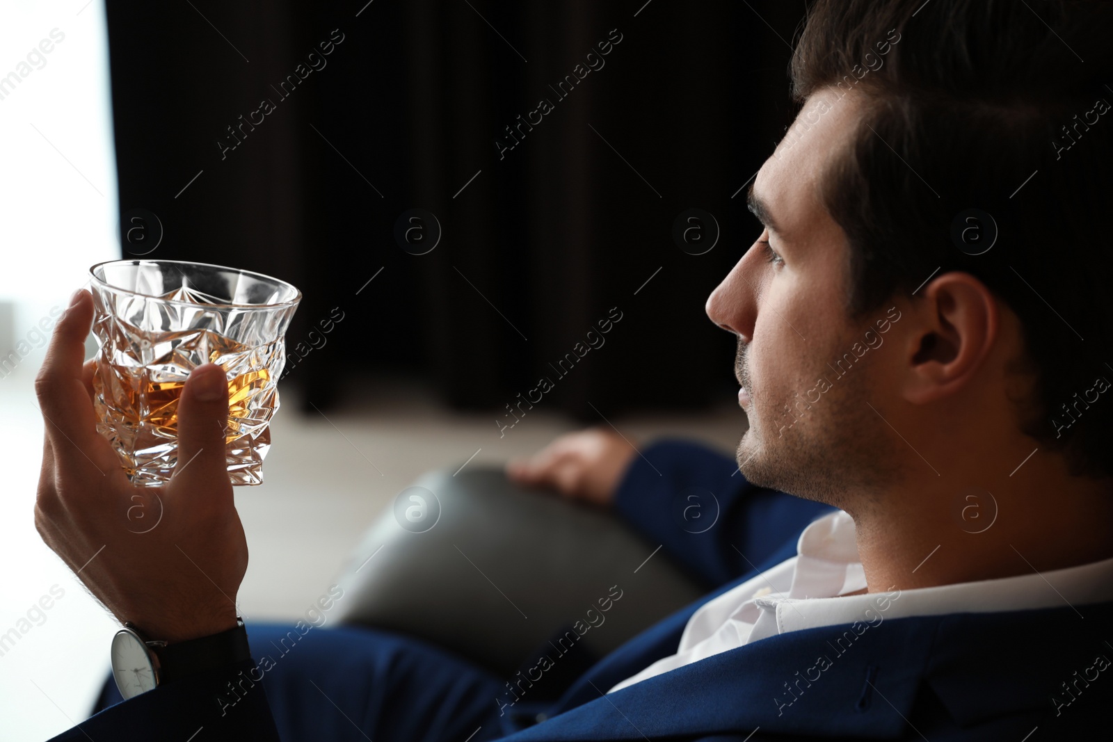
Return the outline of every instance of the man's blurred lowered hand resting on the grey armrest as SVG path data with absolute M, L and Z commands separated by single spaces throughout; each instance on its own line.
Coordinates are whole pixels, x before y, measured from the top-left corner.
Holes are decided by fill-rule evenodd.
M 601 428 L 569 433 L 526 459 L 511 461 L 506 475 L 533 487 L 553 487 L 565 497 L 610 505 L 638 451 Z

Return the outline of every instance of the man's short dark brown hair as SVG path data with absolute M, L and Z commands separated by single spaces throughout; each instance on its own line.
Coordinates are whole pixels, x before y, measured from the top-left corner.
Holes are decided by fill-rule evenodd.
M 1037 374 L 1022 429 L 1090 476 L 1113 474 L 1113 389 L 1095 385 L 1113 382 L 1111 4 L 818 0 L 791 66 L 798 101 L 866 93 L 824 184 L 850 243 L 850 314 L 937 268 L 977 277 L 1020 317 Z M 969 209 L 998 231 L 981 255 L 959 245 L 992 236 L 984 217 L 954 229 Z

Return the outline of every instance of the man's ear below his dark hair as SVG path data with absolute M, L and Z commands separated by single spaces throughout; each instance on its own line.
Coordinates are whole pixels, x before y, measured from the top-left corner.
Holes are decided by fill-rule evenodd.
M 926 404 L 954 394 L 976 376 L 998 340 L 1001 315 L 985 284 L 966 273 L 943 274 L 913 304 L 915 335 L 904 397 Z

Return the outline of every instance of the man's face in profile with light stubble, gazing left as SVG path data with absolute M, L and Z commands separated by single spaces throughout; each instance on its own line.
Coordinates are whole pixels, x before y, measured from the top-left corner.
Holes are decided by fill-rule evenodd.
M 883 394 L 877 356 L 896 348 L 854 353 L 885 310 L 848 317 L 847 238 L 819 188 L 850 141 L 858 98 L 825 89 L 808 99 L 754 182 L 751 210 L 765 229 L 707 301 L 708 316 L 738 336 L 739 404 L 750 423 L 738 446 L 742 474 L 840 507 L 843 492 L 874 489 L 894 461 L 867 403 Z M 869 337 L 877 342 L 876 327 Z

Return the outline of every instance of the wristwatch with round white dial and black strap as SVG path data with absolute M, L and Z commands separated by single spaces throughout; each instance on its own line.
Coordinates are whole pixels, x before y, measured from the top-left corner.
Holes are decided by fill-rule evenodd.
M 219 634 L 167 644 L 147 639 L 132 623 L 112 637 L 112 677 L 124 700 L 158 685 L 208 670 L 217 670 L 252 657 L 244 620 Z

